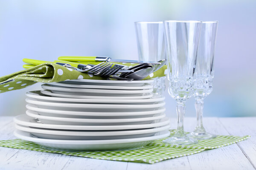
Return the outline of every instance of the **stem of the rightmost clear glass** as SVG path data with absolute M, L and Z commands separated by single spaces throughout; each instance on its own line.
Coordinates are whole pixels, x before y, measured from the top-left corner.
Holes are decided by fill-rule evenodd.
M 197 117 L 197 125 L 194 132 L 205 133 L 203 126 L 203 109 L 204 109 L 204 99 L 195 99 L 195 110 Z

